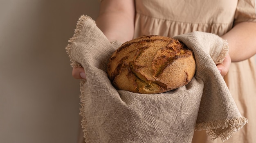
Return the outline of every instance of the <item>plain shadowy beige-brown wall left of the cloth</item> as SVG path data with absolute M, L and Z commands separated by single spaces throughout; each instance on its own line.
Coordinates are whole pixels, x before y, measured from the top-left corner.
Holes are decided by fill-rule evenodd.
M 76 143 L 79 80 L 66 54 L 99 0 L 0 0 L 0 143 Z

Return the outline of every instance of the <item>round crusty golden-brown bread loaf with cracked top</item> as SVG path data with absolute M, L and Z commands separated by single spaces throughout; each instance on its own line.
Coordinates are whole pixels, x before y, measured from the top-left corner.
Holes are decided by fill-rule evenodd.
M 115 88 L 134 93 L 177 89 L 194 74 L 193 52 L 177 39 L 156 35 L 123 43 L 108 63 L 108 77 Z

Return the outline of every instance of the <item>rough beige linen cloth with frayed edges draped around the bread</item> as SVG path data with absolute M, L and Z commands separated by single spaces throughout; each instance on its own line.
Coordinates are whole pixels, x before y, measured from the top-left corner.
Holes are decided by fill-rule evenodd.
M 195 129 L 224 141 L 243 128 L 247 119 L 240 115 L 214 63 L 222 62 L 227 43 L 204 32 L 174 38 L 195 54 L 196 73 L 188 85 L 160 94 L 118 91 L 106 69 L 121 43 L 110 43 L 90 17 L 79 18 L 66 49 L 72 67 L 83 67 L 87 77 L 80 83 L 86 143 L 191 143 Z

